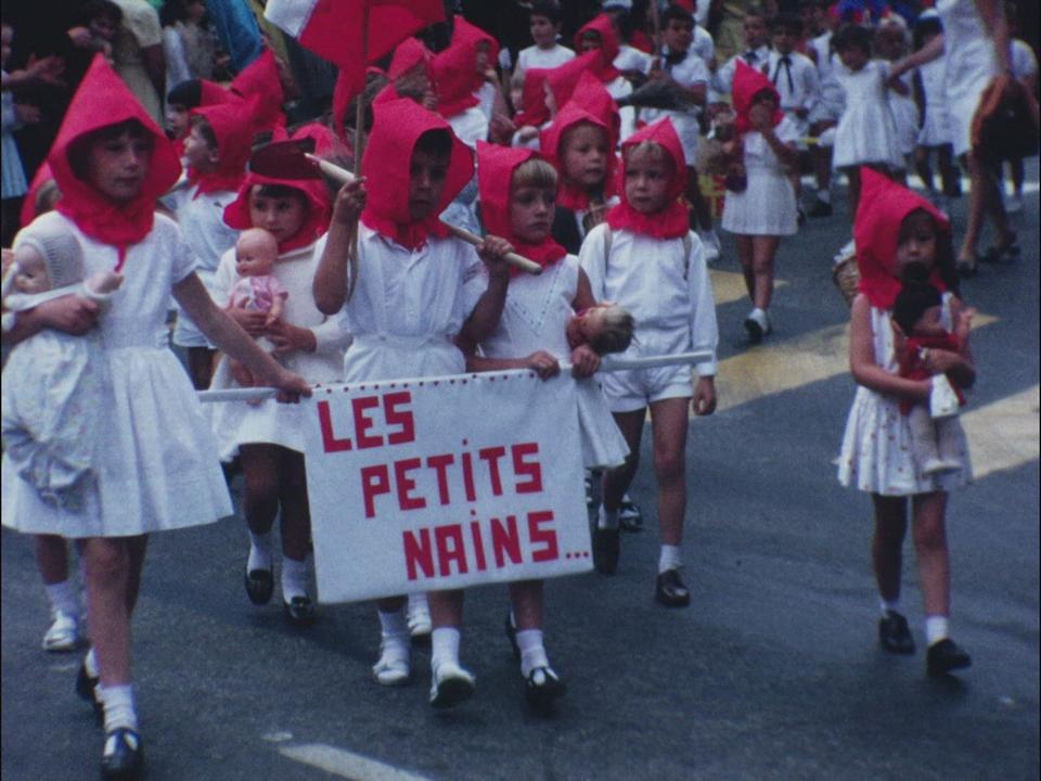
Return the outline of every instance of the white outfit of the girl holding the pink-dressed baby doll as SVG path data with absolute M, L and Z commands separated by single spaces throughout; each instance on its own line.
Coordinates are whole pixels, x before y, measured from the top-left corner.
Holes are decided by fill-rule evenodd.
M 286 356 L 274 356 L 290 371 L 309 383 L 329 384 L 343 381 L 344 349 L 350 342 L 338 318 L 326 318 L 314 305 L 311 283 L 322 257 L 324 238 L 279 256 L 272 274 L 288 291 L 282 318 L 314 334 L 313 353 L 298 350 Z M 235 274 L 235 252 L 228 251 L 220 259 L 214 278 L 214 299 L 228 305 Z M 213 388 L 234 388 L 228 359 L 221 360 L 214 373 Z M 208 405 L 214 433 L 220 445 L 220 457 L 232 459 L 240 445 L 281 445 L 290 450 L 304 451 L 303 412 L 298 405 L 279 404 L 267 399 L 257 405 L 243 401 L 221 401 Z

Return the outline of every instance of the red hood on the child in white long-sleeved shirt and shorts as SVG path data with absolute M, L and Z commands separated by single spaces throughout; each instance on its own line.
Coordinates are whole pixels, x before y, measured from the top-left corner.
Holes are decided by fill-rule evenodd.
M 626 150 L 643 141 L 651 141 L 666 151 L 672 159 L 672 178 L 666 192 L 666 207 L 654 214 L 638 212 L 629 205 L 626 199 L 625 183 L 620 182 L 618 191 L 621 203 L 607 213 L 607 225 L 614 230 L 628 230 L 633 233 L 643 233 L 655 239 L 679 239 L 686 235 L 691 229 L 687 220 L 686 206 L 679 200 L 686 188 L 686 162 L 683 158 L 683 144 L 676 135 L 672 120 L 668 117 L 659 119 L 653 125 L 634 132 L 621 144 L 622 161 Z

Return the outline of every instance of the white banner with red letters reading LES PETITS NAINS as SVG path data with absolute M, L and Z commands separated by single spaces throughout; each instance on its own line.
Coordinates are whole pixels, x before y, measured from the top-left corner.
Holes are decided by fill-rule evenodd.
M 592 568 L 569 375 L 333 385 L 305 404 L 321 602 Z

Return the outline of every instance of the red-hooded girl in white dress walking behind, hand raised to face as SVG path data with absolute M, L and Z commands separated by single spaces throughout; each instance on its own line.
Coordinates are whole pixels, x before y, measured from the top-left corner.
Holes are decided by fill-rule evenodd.
M 758 344 L 772 325 L 774 258 L 781 236 L 798 230 L 791 171 L 798 166 L 799 131 L 780 107 L 777 90 L 766 76 L 737 63 L 734 111 L 745 189 L 727 193 L 723 229 L 737 234 L 737 257 L 753 309 L 745 318 L 748 341 Z

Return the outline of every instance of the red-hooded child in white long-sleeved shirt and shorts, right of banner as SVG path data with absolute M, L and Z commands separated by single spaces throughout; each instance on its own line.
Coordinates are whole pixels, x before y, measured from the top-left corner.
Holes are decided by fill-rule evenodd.
M 632 312 L 637 333 L 627 355 L 708 350 L 696 364 L 692 388 L 685 366 L 612 372 L 602 379 L 608 406 L 629 444 L 625 465 L 604 474 L 603 505 L 593 533 L 593 563 L 605 575 L 618 564 L 618 507 L 635 474 L 646 408 L 651 407 L 661 552 L 655 598 L 661 604 L 690 604 L 680 578 L 680 545 L 686 508 L 684 460 L 687 401 L 695 414 L 716 408 L 718 331 L 711 283 L 701 241 L 690 233 L 683 192 L 686 164 L 669 119 L 633 135 L 622 145 L 622 202 L 582 244 L 579 259 L 593 297 Z

